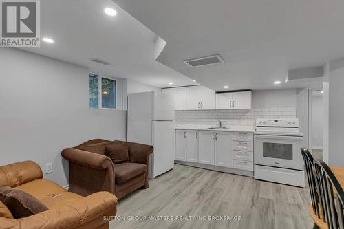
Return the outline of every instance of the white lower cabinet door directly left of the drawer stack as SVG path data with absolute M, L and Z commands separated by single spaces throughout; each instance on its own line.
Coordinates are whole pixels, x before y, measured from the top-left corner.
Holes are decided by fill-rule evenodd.
M 215 132 L 215 165 L 233 168 L 232 132 Z

